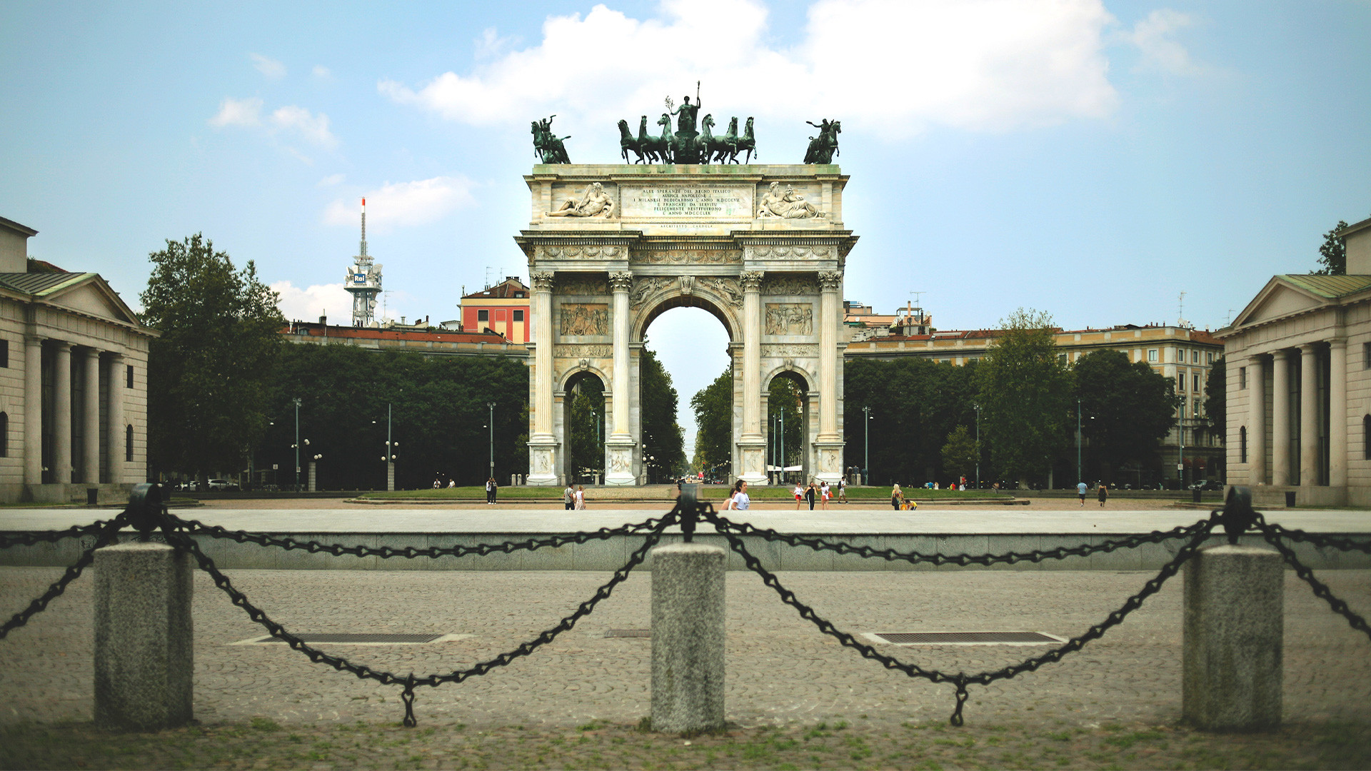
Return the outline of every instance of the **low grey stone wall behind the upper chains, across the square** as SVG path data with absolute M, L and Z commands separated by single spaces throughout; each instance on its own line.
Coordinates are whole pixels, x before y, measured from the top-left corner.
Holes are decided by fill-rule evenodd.
M 343 546 L 365 545 L 369 547 L 389 546 L 392 549 L 428 549 L 430 546 L 447 547 L 457 545 L 503 543 L 507 541 L 520 542 L 535 538 L 528 532 L 472 532 L 472 534 L 425 534 L 399 532 L 378 535 L 374 532 L 289 532 L 274 534 L 277 536 L 291 536 L 296 541 L 319 541 L 321 543 L 341 543 Z M 1058 546 L 1073 547 L 1083 543 L 1102 543 L 1130 534 L 994 534 L 994 535 L 846 535 L 846 534 L 806 534 L 809 538 L 823 538 L 828 542 L 843 542 L 851 546 L 871 546 L 872 549 L 894 549 L 897 551 L 920 551 L 924 554 L 999 554 L 1005 551 L 1032 551 L 1052 550 Z M 1326 534 L 1338 538 L 1352 538 L 1363 541 L 1364 532 L 1359 534 Z M 134 534 L 128 532 L 123 541 L 134 539 Z M 679 534 L 668 534 L 662 543 L 679 542 Z M 616 571 L 628 561 L 628 556 L 643 545 L 643 536 L 616 536 L 606 541 L 590 541 L 587 543 L 569 543 L 559 547 L 542 547 L 533 551 L 522 550 L 513 553 L 495 553 L 485 557 L 335 557 L 332 554 L 311 554 L 303 549 L 284 550 L 277 547 L 263 547 L 252 543 L 237 543 L 226 539 L 197 536 L 200 547 L 221 568 L 229 569 L 380 569 L 380 571 Z M 695 541 L 713 543 L 728 549 L 723 536 L 696 532 Z M 861 558 L 856 554 L 836 554 L 834 551 L 814 551 L 808 547 L 794 547 L 783 543 L 768 543 L 757 536 L 744 536 L 747 549 L 755 554 L 762 567 L 768 571 L 961 571 L 961 569 L 1009 569 L 1009 571 L 1156 571 L 1169 561 L 1182 541 L 1174 539 L 1165 543 L 1145 543 L 1138 549 L 1120 549 L 1111 553 L 1093 554 L 1090 557 L 1067 557 L 1064 560 L 1043 560 L 1042 562 L 1019 562 L 1016 565 L 994 565 L 982 568 L 972 565 L 962 568 L 958 565 L 935 567 L 928 564 L 910 565 L 905 561 L 887 561 L 883 558 Z M 1209 543 L 1223 543 L 1223 536 L 1213 536 Z M 1265 545 L 1260 535 L 1245 535 L 1242 543 L 1250 546 Z M 36 546 L 12 546 L 0 550 L 0 565 L 4 567 L 66 567 L 77 560 L 81 550 L 92 545 L 89 538 L 64 539 L 59 543 L 40 543 Z M 1361 551 L 1319 550 L 1308 543 L 1294 543 L 1296 554 L 1305 565 L 1313 569 L 1368 569 L 1371 568 L 1371 554 Z M 651 569 L 651 557 L 643 562 L 642 569 Z M 742 557 L 729 551 L 727 569 L 743 571 Z

